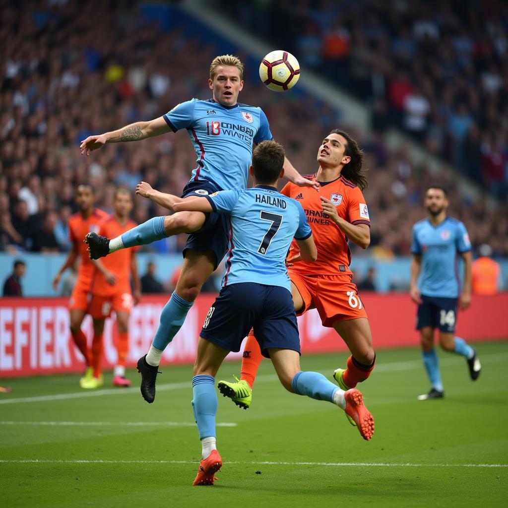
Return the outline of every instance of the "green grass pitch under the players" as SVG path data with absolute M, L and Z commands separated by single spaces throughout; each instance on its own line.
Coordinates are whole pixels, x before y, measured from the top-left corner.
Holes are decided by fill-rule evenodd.
M 201 446 L 192 367 L 164 367 L 155 402 L 138 389 L 84 392 L 77 375 L 0 380 L 0 504 L 78 506 L 508 506 L 508 342 L 477 344 L 464 359 L 439 353 L 446 398 L 429 389 L 416 348 L 378 351 L 359 388 L 375 419 L 370 442 L 327 402 L 285 392 L 264 361 L 244 411 L 220 397 L 213 487 L 193 487 Z M 304 370 L 345 354 L 302 357 Z M 217 376 L 230 379 L 239 363 Z M 6 403 L 8 401 L 12 401 Z M 63 423 L 67 422 L 67 423 Z

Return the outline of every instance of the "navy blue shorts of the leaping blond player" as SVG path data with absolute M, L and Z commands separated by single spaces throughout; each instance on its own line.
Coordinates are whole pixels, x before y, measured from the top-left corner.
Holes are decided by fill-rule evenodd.
M 205 180 L 190 181 L 183 187 L 182 198 L 188 196 L 207 196 L 219 190 L 215 185 Z M 204 252 L 213 250 L 215 253 L 215 268 L 226 255 L 228 250 L 229 215 L 227 213 L 211 212 L 206 214 L 203 227 L 196 233 L 190 233 L 182 254 L 185 257 L 187 249 Z M 214 268 L 214 269 L 215 269 Z

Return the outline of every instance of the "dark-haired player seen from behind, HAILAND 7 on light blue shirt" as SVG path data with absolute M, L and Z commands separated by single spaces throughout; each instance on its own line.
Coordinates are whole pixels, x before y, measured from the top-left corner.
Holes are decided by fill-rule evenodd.
M 284 262 L 293 238 L 304 261 L 315 261 L 317 250 L 300 203 L 277 192 L 283 161 L 282 146 L 264 141 L 252 156 L 253 188 L 184 199 L 157 192 L 145 182 L 136 190 L 175 211 L 215 211 L 231 218 L 223 288 L 206 316 L 194 365 L 192 404 L 202 444 L 194 485 L 213 485 L 222 465 L 216 450 L 215 374 L 230 351 L 240 351 L 251 328 L 284 388 L 340 406 L 357 422 L 364 439 L 374 432 L 358 390 L 344 392 L 322 374 L 300 370 L 298 326 Z

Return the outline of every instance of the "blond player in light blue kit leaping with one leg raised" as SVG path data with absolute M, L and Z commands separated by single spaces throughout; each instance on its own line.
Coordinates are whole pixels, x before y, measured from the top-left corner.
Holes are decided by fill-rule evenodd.
M 196 150 L 197 167 L 182 197 L 208 195 L 218 190 L 245 188 L 252 147 L 272 134 L 260 108 L 239 104 L 243 88 L 243 64 L 235 56 L 217 56 L 210 66 L 208 86 L 212 99 L 193 99 L 175 106 L 154 120 L 136 122 L 123 129 L 90 136 L 81 143 L 81 153 L 105 143 L 138 141 L 185 129 Z M 285 178 L 298 185 L 317 186 L 303 178 L 284 158 Z M 224 257 L 228 246 L 228 219 L 220 213 L 199 211 L 153 217 L 113 239 L 95 233 L 86 236 L 90 257 L 98 259 L 121 248 L 133 247 L 190 233 L 183 250 L 184 261 L 174 293 L 161 313 L 161 323 L 146 357 L 138 362 L 141 393 L 147 402 L 155 397 L 157 366 L 165 347 L 180 329 L 188 310 L 206 279 Z

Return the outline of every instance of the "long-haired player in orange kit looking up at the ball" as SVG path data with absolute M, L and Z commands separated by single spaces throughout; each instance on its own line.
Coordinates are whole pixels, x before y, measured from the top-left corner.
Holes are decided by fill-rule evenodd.
M 301 261 L 298 246 L 293 243 L 288 273 L 297 314 L 316 308 L 323 326 L 334 328 L 352 353 L 347 368 L 334 372 L 342 390 L 349 390 L 369 377 L 375 362 L 367 313 L 352 282 L 351 250 L 347 244 L 351 240 L 367 248 L 370 243 L 370 219 L 362 194 L 367 178 L 362 168 L 362 150 L 338 129 L 323 140 L 317 162 L 317 173 L 308 178 L 319 182 L 318 192 L 292 183 L 281 191 L 302 205 L 317 247 L 317 261 L 306 263 Z M 245 409 L 252 400 L 251 389 L 261 358 L 258 342 L 249 334 L 241 379 L 218 384 L 221 393 Z

